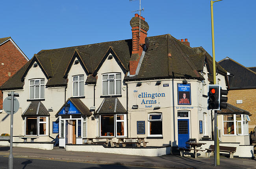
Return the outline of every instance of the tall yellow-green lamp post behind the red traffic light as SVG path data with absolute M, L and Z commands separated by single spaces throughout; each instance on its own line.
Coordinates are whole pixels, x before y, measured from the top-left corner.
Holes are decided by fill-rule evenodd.
M 213 3 L 222 0 L 212 1 L 211 4 L 211 42 L 212 42 L 212 57 L 213 57 L 213 83 L 216 84 L 216 69 L 215 69 L 215 45 L 214 45 L 214 26 L 213 26 Z M 217 110 L 214 111 L 214 166 L 220 165 L 219 162 L 219 136 L 217 123 Z

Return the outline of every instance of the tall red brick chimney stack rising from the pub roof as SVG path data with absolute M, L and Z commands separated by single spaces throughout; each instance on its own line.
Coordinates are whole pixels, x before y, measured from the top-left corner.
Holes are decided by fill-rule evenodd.
M 139 37 L 139 19 L 141 20 L 141 33 Z M 132 56 L 130 58 L 130 75 L 135 75 L 141 53 L 143 51 L 141 44 L 145 44 L 145 38 L 147 37 L 147 31 L 149 29 L 148 23 L 145 18 L 135 14 L 130 20 L 132 27 Z

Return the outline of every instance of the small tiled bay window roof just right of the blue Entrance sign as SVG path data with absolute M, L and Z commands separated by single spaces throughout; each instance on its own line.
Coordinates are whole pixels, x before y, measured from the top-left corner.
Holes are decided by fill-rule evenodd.
M 124 109 L 117 97 L 104 98 L 95 114 L 106 113 L 126 113 L 126 109 Z

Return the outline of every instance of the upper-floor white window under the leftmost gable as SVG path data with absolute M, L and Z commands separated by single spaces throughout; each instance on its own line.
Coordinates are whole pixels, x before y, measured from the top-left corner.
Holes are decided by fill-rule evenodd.
M 45 80 L 33 79 L 30 80 L 30 99 L 45 98 Z

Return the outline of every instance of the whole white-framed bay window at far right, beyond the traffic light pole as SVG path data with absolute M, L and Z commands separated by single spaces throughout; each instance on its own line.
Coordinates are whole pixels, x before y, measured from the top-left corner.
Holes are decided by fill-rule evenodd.
M 248 121 L 250 118 L 246 114 L 223 115 L 224 134 L 248 135 Z

